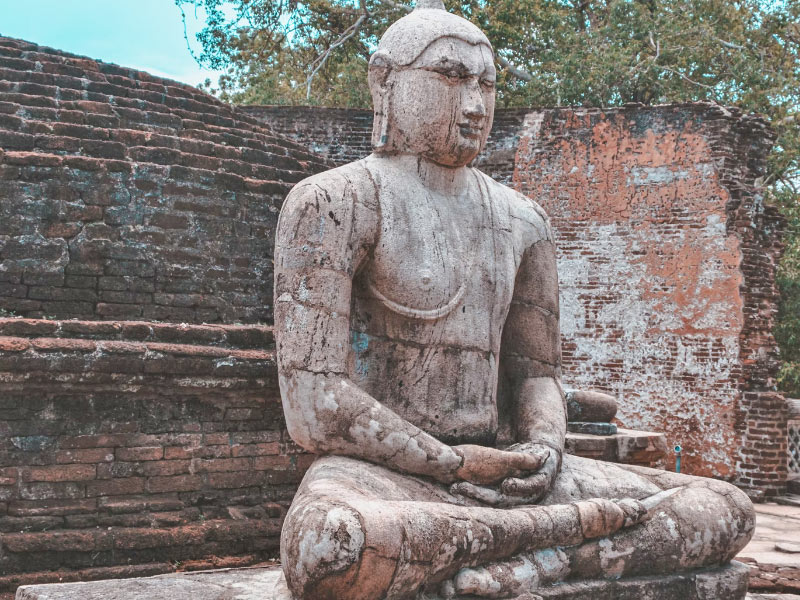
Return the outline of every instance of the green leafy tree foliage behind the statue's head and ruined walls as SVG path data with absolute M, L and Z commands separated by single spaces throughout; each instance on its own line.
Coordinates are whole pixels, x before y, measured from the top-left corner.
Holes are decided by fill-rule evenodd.
M 369 55 L 410 10 L 395 0 L 175 2 L 206 15 L 198 59 L 228 69 L 213 91 L 248 104 L 369 106 Z M 800 1 L 446 3 L 492 42 L 501 106 L 705 100 L 767 118 L 778 140 L 764 183 L 792 223 L 780 274 L 781 381 L 800 395 Z

